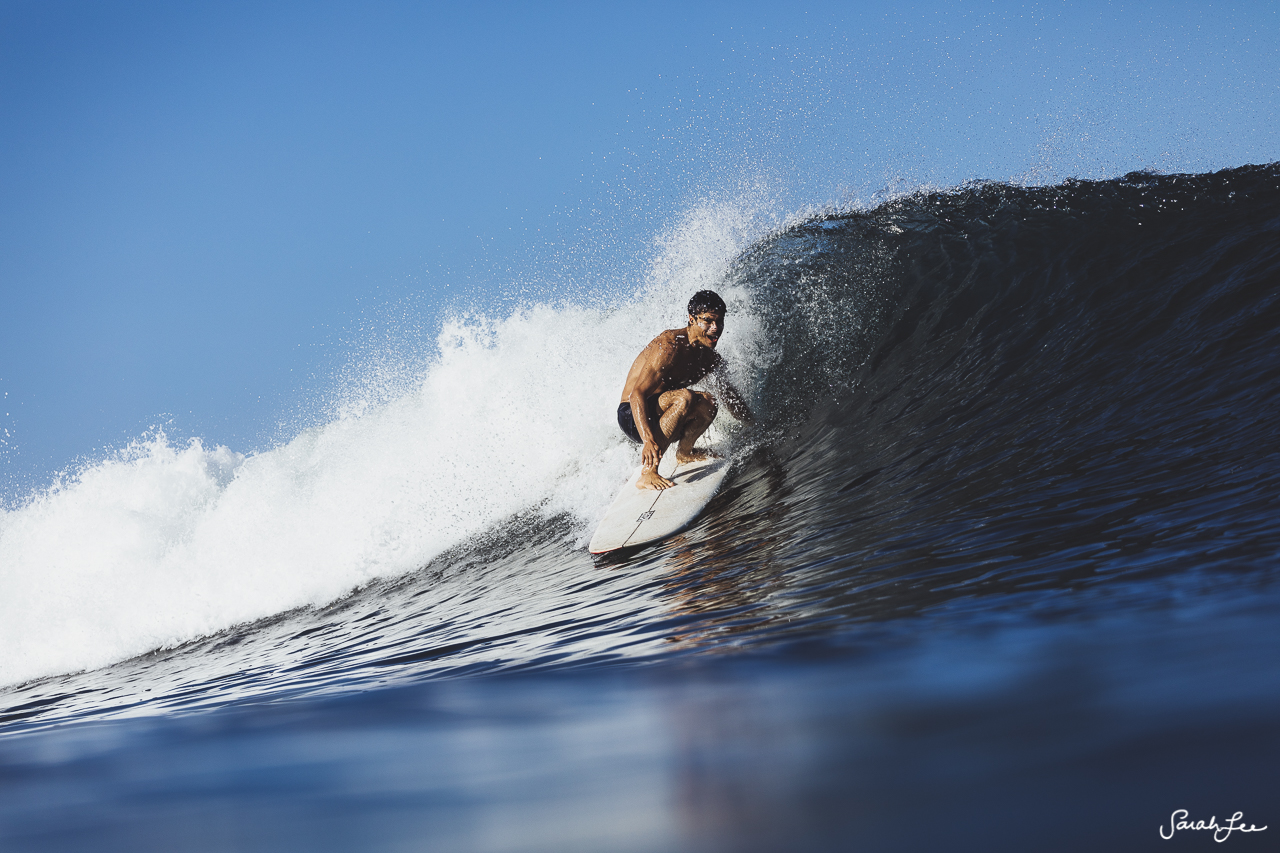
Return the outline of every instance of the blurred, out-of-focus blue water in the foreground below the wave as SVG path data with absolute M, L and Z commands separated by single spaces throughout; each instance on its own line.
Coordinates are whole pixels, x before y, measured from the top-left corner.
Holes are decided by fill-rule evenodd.
M 934 631 L 824 663 L 434 680 L 0 738 L 0 847 L 1164 849 L 1175 807 L 1271 815 L 1277 612 Z

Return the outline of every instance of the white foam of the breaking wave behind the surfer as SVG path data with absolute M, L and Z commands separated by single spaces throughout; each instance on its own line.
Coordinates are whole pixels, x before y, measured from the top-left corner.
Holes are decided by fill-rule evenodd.
M 637 459 L 614 421 L 631 360 L 768 227 L 751 201 L 708 204 L 658 241 L 626 305 L 454 318 L 399 393 L 348 387 L 269 452 L 157 433 L 0 512 L 0 684 L 321 605 L 530 507 L 585 532 Z M 750 392 L 750 298 L 719 289 Z

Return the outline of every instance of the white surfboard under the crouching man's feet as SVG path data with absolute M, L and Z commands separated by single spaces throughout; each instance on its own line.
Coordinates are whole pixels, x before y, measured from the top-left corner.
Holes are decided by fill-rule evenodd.
M 637 489 L 637 467 L 595 529 L 589 546 L 591 553 L 657 542 L 687 528 L 719 491 L 728 474 L 728 460 L 678 465 L 676 455 L 668 453 L 658 465 L 658 473 L 675 485 L 662 491 Z

